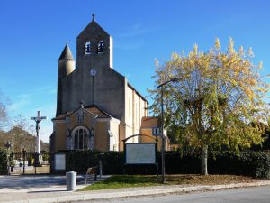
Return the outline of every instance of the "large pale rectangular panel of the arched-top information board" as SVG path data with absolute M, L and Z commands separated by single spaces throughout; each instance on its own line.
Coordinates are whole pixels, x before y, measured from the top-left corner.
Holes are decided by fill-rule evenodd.
M 126 143 L 126 164 L 156 164 L 155 143 Z

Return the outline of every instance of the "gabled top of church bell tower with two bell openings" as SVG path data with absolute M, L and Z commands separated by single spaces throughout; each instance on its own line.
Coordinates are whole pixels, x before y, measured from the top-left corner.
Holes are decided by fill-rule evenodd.
M 92 22 L 76 38 L 77 69 L 112 69 L 112 37 Z

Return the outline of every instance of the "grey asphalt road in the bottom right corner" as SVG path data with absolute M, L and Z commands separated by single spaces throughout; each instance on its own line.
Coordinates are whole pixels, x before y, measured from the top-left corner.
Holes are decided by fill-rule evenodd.
M 113 198 L 91 203 L 269 203 L 270 186 L 247 189 L 229 189 L 220 191 L 200 192 L 182 195 L 167 195 L 143 198 Z

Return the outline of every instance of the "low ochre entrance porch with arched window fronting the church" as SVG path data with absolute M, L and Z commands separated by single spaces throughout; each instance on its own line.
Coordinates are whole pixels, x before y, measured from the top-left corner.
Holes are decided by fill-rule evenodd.
M 61 150 L 119 150 L 120 120 L 98 106 L 83 106 L 52 119 L 51 152 Z

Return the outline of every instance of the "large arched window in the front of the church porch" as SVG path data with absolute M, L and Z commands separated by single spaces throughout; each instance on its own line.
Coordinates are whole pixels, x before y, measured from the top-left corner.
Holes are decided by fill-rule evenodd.
M 74 150 L 84 150 L 89 148 L 89 131 L 84 126 L 76 127 L 73 130 L 72 138 Z

